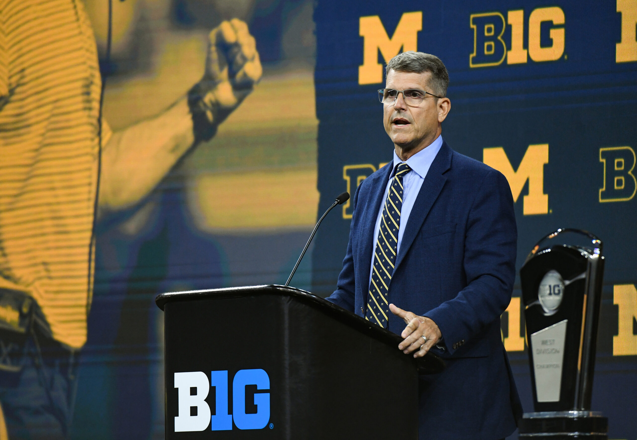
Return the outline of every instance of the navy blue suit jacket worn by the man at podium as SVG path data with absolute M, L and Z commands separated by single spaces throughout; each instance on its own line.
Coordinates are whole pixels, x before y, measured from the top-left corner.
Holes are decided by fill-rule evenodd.
M 347 255 L 328 298 L 361 316 L 376 215 L 392 166 L 356 190 Z M 389 286 L 389 301 L 431 318 L 446 345 L 432 349 L 445 358 L 445 371 L 420 377 L 420 439 L 501 439 L 522 416 L 500 332 L 515 280 L 516 243 L 505 176 L 443 143 L 409 216 Z M 400 334 L 404 327 L 401 318 L 389 316 L 389 330 Z

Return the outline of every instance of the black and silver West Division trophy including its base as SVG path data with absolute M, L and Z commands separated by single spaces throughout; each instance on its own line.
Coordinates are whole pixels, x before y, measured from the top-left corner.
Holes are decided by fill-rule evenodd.
M 520 439 L 608 439 L 590 411 L 603 273 L 601 240 L 578 229 L 548 234 L 520 269 L 535 410 Z

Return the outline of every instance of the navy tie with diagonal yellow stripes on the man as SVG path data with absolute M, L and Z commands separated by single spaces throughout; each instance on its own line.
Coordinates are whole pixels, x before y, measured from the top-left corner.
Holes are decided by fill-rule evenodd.
M 365 319 L 384 328 L 387 328 L 389 324 L 390 311 L 387 295 L 389 295 L 389 283 L 392 280 L 396 262 L 400 212 L 403 208 L 403 176 L 410 171 L 411 168 L 404 162 L 396 166 L 396 174 L 394 174 L 387 199 L 385 199 L 378 238 L 376 239 Z

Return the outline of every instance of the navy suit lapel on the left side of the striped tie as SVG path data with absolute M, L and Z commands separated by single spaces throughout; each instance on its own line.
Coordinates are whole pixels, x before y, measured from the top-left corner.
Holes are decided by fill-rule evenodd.
M 370 176 L 368 179 L 373 179 L 371 182 L 371 188 L 369 188 L 370 197 L 369 204 L 365 207 L 364 227 L 362 228 L 362 240 L 359 245 L 360 265 L 359 265 L 359 285 L 363 287 L 362 296 L 363 301 L 366 302 L 366 295 L 369 290 L 369 271 L 371 270 L 371 253 L 376 246 L 376 237 L 374 236 L 374 227 L 376 225 L 376 217 L 378 217 L 378 209 L 383 202 L 383 196 L 385 195 L 385 188 L 387 187 L 387 181 L 394 169 L 394 162 L 389 162 L 385 166 L 387 169 L 382 173 L 378 173 L 377 176 Z M 380 170 L 379 170 L 380 171 Z

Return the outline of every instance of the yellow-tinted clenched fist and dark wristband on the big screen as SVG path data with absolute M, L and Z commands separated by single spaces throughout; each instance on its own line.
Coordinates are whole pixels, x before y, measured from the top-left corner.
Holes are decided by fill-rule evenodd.
M 206 71 L 189 92 L 196 132 L 209 132 L 220 124 L 252 92 L 262 74 L 257 45 L 245 22 L 224 21 L 208 38 Z

